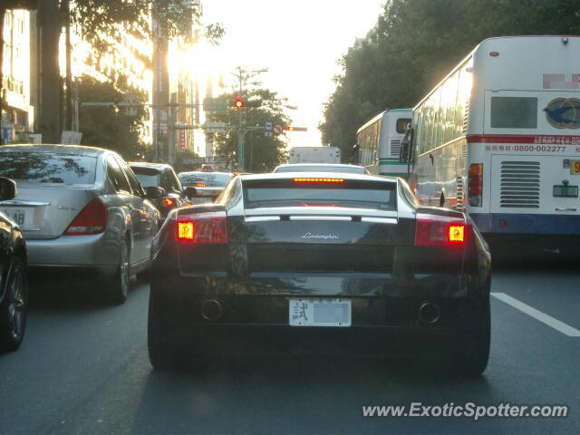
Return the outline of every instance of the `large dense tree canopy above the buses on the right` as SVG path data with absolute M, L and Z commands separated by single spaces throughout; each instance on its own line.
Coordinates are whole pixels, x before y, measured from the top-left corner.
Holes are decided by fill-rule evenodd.
M 579 31 L 576 0 L 390 0 L 340 61 L 319 126 L 323 140 L 351 155 L 362 123 L 387 108 L 413 107 L 488 37 Z

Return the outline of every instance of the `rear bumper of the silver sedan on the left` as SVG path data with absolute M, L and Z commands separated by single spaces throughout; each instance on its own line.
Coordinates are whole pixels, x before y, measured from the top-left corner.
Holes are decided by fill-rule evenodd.
M 62 236 L 53 239 L 27 238 L 31 267 L 102 268 L 119 265 L 121 244 L 109 233 L 89 236 Z

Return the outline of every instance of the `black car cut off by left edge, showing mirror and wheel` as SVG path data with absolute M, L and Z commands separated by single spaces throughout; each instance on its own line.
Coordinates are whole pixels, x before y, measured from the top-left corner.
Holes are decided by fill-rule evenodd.
M 15 195 L 14 181 L 0 178 L 0 201 Z M 22 343 L 27 306 L 24 237 L 14 216 L 0 212 L 0 352 L 14 351 Z

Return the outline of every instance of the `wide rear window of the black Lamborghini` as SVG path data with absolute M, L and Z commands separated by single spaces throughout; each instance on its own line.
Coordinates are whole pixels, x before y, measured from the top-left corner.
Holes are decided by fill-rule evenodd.
M 299 182 L 295 179 L 246 180 L 246 208 L 346 207 L 396 210 L 396 183 L 367 180 Z

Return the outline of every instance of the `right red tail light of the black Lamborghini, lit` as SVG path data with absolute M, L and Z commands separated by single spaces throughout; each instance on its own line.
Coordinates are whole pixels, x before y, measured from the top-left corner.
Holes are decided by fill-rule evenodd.
M 417 216 L 416 247 L 462 247 L 467 235 L 468 225 L 461 218 Z

